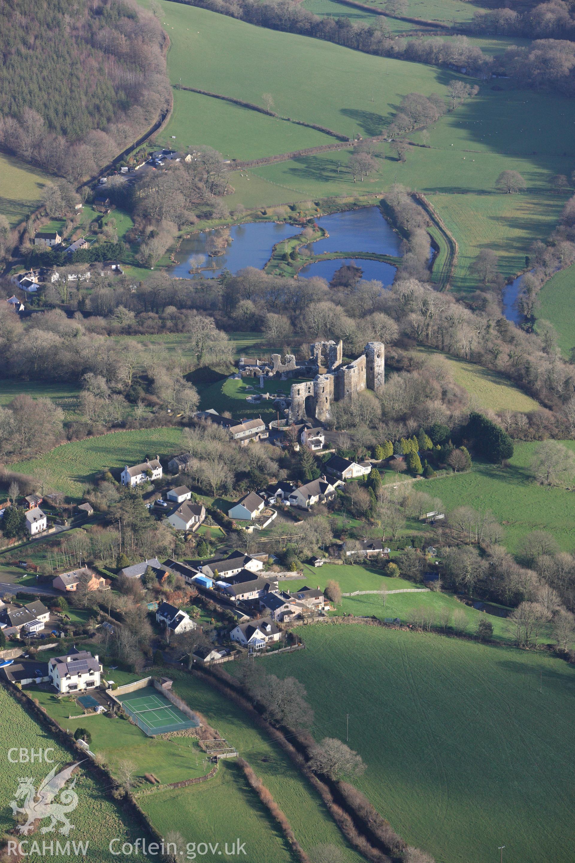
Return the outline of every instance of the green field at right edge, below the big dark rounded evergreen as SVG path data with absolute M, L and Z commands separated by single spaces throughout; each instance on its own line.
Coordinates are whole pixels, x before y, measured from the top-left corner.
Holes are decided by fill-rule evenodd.
M 575 451 L 575 441 L 561 443 Z M 507 469 L 475 463 L 469 473 L 426 481 L 425 490 L 441 498 L 447 513 L 462 506 L 482 512 L 491 510 L 503 525 L 503 545 L 508 551 L 517 551 L 522 539 L 535 530 L 552 533 L 563 551 L 573 551 L 573 493 L 535 482 L 529 463 L 536 446 L 536 443 L 516 443 L 515 455 Z

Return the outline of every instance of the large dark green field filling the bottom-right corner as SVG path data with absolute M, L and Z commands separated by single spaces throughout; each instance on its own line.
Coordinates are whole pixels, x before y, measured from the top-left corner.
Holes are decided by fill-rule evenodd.
M 367 766 L 354 783 L 409 844 L 438 863 L 495 860 L 498 844 L 522 863 L 572 859 L 572 666 L 376 627 L 311 626 L 305 640 L 273 672 L 306 687 L 317 740 L 345 740 L 349 715 Z

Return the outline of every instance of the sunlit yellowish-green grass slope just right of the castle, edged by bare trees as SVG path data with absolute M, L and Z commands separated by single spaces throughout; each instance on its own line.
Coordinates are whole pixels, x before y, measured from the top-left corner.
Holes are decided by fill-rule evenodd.
M 484 369 L 475 362 L 466 362 L 436 350 L 420 349 L 426 356 L 434 356 L 447 365 L 455 383 L 467 390 L 473 409 L 491 411 L 536 411 L 537 402 L 522 392 L 503 375 Z

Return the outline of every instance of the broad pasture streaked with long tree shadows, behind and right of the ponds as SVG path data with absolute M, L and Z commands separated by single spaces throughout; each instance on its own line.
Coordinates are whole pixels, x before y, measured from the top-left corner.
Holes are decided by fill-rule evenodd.
M 441 72 L 435 72 L 441 78 Z M 469 268 L 481 249 L 493 249 L 503 275 L 512 276 L 525 266 L 531 243 L 553 230 L 566 202 L 566 196 L 553 193 L 548 180 L 553 173 L 569 173 L 574 117 L 564 98 L 482 86 L 478 97 L 428 129 L 429 146 L 412 148 L 405 163 L 382 146 L 378 173 L 362 185 L 367 191 L 383 192 L 397 181 L 427 195 L 459 244 L 456 289 L 476 286 Z M 551 143 L 547 123 L 558 129 Z M 412 137 L 416 141 L 419 134 Z M 254 207 L 349 193 L 352 186 L 357 188 L 345 169 L 349 153 L 258 166 L 248 177 L 234 173 L 234 197 Z M 498 174 L 508 169 L 522 173 L 527 192 L 496 192 Z

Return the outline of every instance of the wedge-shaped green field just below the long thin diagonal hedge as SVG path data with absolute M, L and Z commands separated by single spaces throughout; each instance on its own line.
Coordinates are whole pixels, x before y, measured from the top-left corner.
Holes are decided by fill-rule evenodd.
M 316 129 L 266 117 L 222 99 L 185 90 L 174 90 L 173 96 L 172 117 L 159 136 L 159 143 L 166 146 L 187 151 L 202 143 L 219 150 L 224 159 L 261 159 L 334 143 L 331 135 Z

